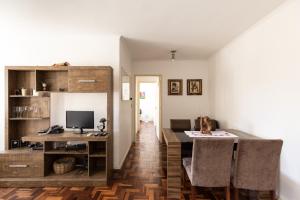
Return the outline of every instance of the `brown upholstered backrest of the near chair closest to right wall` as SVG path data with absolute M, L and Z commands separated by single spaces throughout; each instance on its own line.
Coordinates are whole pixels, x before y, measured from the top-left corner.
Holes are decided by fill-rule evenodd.
M 282 140 L 240 139 L 233 185 L 249 190 L 275 190 Z

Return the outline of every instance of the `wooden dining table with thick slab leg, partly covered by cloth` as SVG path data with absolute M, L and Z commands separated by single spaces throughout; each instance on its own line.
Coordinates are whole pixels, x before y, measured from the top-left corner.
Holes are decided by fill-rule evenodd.
M 234 129 L 226 129 L 225 131 L 243 139 L 258 139 L 256 136 Z M 163 142 L 167 145 L 167 197 L 180 199 L 182 146 L 191 146 L 193 138 L 184 132 L 174 132 L 165 128 L 163 129 Z

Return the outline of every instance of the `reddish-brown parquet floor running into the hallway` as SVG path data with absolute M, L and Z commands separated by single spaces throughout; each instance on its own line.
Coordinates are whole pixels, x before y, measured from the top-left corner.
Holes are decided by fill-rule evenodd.
M 0 188 L 0 199 L 16 200 L 105 200 L 166 199 L 166 147 L 159 144 L 151 123 L 143 124 L 136 143 L 129 151 L 124 167 L 114 174 L 111 187 Z M 190 199 L 189 183 L 182 188 L 182 199 Z M 24 187 L 26 187 L 24 185 Z M 199 200 L 223 200 L 223 190 L 198 190 Z M 241 200 L 270 199 L 264 193 L 241 191 Z

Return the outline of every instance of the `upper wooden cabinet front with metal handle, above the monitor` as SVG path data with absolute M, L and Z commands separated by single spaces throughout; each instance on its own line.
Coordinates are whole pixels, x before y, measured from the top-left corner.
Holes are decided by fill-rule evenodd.
M 70 69 L 69 92 L 105 92 L 110 72 L 106 69 Z

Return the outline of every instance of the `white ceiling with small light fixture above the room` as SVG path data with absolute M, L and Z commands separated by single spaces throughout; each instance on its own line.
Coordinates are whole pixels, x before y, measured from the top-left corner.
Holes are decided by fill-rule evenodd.
M 179 59 L 205 58 L 284 0 L 0 1 L 20 30 L 122 35 L 133 59 L 144 60 L 169 58 L 171 49 Z

